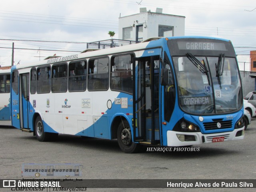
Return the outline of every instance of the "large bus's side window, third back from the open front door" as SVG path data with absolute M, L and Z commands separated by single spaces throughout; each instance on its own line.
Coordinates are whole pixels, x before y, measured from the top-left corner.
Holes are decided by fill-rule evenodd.
M 86 90 L 86 61 L 78 61 L 69 64 L 68 90 L 85 91 Z

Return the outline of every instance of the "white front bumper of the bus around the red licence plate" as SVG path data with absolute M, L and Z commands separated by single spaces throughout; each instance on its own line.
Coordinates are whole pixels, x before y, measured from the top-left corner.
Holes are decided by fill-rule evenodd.
M 194 136 L 194 141 L 180 141 L 177 134 Z M 176 132 L 167 131 L 167 146 L 190 146 L 205 143 L 212 143 L 212 138 L 224 137 L 224 141 L 241 140 L 244 139 L 244 127 L 235 129 L 232 132 L 222 132 L 213 134 L 202 134 L 201 132 Z

